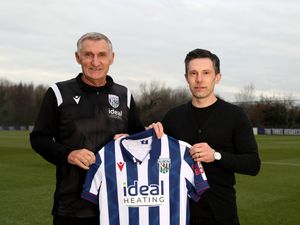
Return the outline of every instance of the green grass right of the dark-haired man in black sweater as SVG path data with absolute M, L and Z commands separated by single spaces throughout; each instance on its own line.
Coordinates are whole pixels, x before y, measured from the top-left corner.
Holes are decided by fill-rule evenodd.
M 300 224 L 300 136 L 257 136 L 256 177 L 237 175 L 242 225 Z

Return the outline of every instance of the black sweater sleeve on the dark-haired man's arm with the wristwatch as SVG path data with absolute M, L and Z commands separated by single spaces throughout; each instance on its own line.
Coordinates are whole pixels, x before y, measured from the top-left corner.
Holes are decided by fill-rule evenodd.
M 235 116 L 232 141 L 234 153 L 216 149 L 222 155 L 217 163 L 236 173 L 257 175 L 260 170 L 258 147 L 250 120 L 242 109 L 237 110 Z

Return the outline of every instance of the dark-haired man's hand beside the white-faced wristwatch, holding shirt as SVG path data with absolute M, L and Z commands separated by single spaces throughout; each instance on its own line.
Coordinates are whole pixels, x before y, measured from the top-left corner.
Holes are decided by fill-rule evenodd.
M 207 143 L 197 143 L 190 148 L 190 155 L 194 161 L 210 163 L 215 161 L 215 150 Z

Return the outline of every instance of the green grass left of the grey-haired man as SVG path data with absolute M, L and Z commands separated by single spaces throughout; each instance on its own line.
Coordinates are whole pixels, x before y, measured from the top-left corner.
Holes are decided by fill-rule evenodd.
M 52 224 L 55 167 L 30 147 L 29 132 L 0 131 L 0 224 Z

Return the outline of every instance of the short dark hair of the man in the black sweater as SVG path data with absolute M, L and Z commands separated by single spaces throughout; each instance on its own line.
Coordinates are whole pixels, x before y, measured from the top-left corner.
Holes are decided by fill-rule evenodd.
M 218 56 L 216 56 L 215 54 L 211 53 L 208 50 L 196 48 L 193 51 L 190 51 L 184 59 L 185 75 L 187 75 L 187 73 L 188 73 L 189 62 L 193 59 L 198 59 L 198 58 L 211 59 L 211 61 L 213 62 L 213 65 L 214 65 L 215 73 L 216 74 L 220 73 L 220 60 L 219 60 Z

